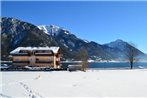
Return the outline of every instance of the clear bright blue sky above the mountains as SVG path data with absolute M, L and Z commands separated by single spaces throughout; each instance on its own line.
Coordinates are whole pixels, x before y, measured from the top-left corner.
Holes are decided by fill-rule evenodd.
M 99 44 L 116 39 L 133 42 L 147 53 L 147 2 L 5 1 L 2 16 L 35 25 L 54 24 Z

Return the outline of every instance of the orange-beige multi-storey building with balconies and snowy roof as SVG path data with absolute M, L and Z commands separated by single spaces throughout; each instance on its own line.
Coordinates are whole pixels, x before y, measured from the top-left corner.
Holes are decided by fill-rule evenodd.
M 59 47 L 18 47 L 10 55 L 13 66 L 60 68 Z

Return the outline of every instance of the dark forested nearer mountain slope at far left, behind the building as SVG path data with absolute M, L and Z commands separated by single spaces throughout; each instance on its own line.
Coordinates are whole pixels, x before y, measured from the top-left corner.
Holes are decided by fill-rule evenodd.
M 16 47 L 51 46 L 56 42 L 35 25 L 15 18 L 1 18 L 1 59 L 8 60 Z

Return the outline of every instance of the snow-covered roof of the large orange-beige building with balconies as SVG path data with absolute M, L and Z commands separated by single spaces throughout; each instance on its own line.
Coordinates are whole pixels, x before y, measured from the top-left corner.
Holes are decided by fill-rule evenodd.
M 11 51 L 10 54 L 19 53 L 20 50 L 51 50 L 53 53 L 58 53 L 60 47 L 18 47 L 15 50 Z

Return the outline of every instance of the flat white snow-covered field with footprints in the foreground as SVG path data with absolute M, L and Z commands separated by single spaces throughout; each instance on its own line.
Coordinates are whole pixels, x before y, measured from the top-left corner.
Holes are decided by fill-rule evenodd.
M 147 69 L 0 72 L 0 97 L 147 97 Z

